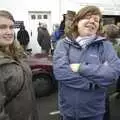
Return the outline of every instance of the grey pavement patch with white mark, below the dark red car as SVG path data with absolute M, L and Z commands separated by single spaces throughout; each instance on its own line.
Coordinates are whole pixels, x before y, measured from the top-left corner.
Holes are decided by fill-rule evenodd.
M 37 99 L 39 120 L 59 120 L 57 92 Z M 52 114 L 51 114 L 52 113 Z

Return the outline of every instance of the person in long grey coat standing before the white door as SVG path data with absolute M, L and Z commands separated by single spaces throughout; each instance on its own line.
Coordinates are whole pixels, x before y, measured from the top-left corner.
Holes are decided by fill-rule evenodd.
M 44 23 L 39 24 L 37 41 L 42 48 L 42 53 L 49 54 L 51 48 L 50 34 L 47 30 L 47 25 Z

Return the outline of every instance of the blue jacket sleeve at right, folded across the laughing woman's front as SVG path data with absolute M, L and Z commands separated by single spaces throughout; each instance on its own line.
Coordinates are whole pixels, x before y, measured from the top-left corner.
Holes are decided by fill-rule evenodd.
M 120 59 L 113 46 L 104 45 L 104 62 L 101 64 L 81 64 L 79 73 L 101 87 L 108 86 L 120 75 Z

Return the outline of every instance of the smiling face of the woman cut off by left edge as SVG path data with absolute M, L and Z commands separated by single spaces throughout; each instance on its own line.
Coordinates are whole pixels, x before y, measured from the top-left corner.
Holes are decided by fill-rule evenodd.
M 14 22 L 0 16 L 0 46 L 9 46 L 14 40 Z

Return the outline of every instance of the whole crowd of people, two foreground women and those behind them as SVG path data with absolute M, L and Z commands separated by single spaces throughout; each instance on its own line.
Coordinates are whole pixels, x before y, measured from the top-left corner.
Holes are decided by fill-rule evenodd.
M 0 10 L 0 120 L 38 120 L 32 72 L 24 61 L 30 42 L 20 25 L 17 40 L 12 14 Z M 43 53 L 53 48 L 61 120 L 109 120 L 107 89 L 116 83 L 120 98 L 120 27 L 102 26 L 102 13 L 86 6 L 68 11 L 51 35 L 39 23 L 37 41 Z

